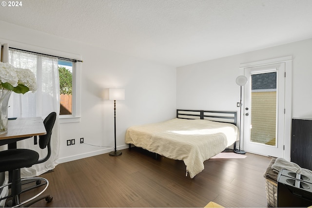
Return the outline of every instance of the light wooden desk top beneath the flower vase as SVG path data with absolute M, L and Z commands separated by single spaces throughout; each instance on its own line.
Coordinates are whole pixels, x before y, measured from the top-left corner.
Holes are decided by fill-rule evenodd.
M 32 136 L 44 135 L 46 133 L 41 117 L 8 120 L 8 132 L 0 135 L 0 145 L 17 142 Z

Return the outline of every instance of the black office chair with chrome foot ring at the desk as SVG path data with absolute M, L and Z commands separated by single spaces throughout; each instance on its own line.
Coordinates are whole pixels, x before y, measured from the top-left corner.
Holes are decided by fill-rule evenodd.
M 39 159 L 39 153 L 37 151 L 28 149 L 11 149 L 6 151 L 0 151 L 0 172 L 9 171 L 9 183 L 0 187 L 0 190 L 4 187 L 9 187 L 11 192 L 8 196 L 0 198 L 0 201 L 4 199 L 12 198 L 12 204 L 8 204 L 10 207 L 29 207 L 30 205 L 38 202 L 41 199 L 45 199 L 47 202 L 51 202 L 53 197 L 50 195 L 41 196 L 49 185 L 48 180 L 41 177 L 20 178 L 20 169 L 28 168 L 35 164 L 43 163 L 47 161 L 51 156 L 51 134 L 56 120 L 57 113 L 50 113 L 43 121 L 46 134 L 39 135 L 39 147 L 41 149 L 47 148 L 47 155 L 43 159 Z M 43 184 L 41 182 L 44 182 Z M 26 182 L 26 183 L 25 183 Z M 31 188 L 22 189 L 22 186 L 31 182 L 35 182 L 36 185 Z M 20 202 L 20 194 L 30 189 L 35 189 L 39 186 L 46 185 L 34 197 Z

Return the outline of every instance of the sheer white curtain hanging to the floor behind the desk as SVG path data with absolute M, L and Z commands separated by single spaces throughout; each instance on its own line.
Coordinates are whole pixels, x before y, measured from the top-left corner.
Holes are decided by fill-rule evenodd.
M 17 68 L 27 68 L 35 73 L 37 91 L 24 95 L 12 93 L 9 101 L 9 117 L 42 117 L 56 112 L 57 119 L 51 136 L 51 157 L 42 164 L 21 170 L 22 177 L 40 175 L 52 170 L 59 158 L 59 69 L 58 59 L 9 49 L 9 63 Z M 39 139 L 39 138 L 38 138 Z M 18 142 L 18 148 L 39 152 L 39 158 L 45 157 L 47 150 L 34 145 L 32 138 Z

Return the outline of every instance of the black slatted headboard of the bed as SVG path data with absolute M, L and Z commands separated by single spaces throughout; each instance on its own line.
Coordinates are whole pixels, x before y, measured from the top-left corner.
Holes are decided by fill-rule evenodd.
M 236 125 L 236 111 L 201 111 L 201 110 L 176 110 L 177 118 L 184 119 L 205 119 L 210 121 L 218 121 L 231 123 Z

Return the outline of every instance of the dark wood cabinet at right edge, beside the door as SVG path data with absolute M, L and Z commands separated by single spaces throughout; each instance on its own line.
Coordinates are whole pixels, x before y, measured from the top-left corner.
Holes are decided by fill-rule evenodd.
M 292 119 L 291 161 L 312 170 L 312 120 Z

